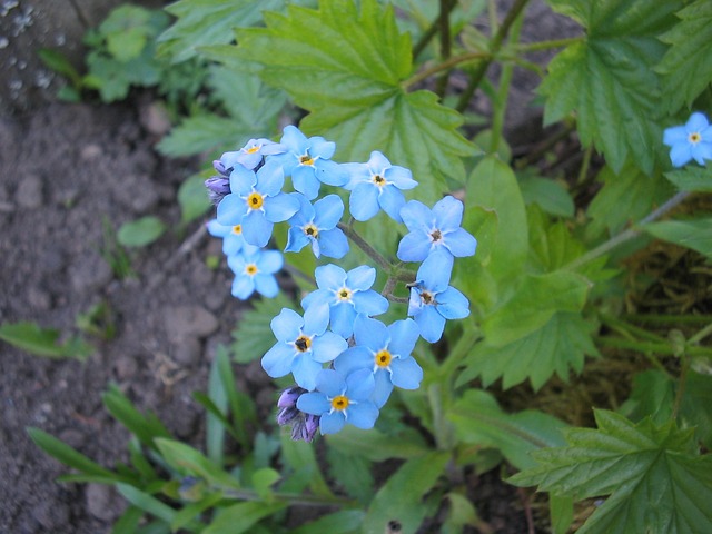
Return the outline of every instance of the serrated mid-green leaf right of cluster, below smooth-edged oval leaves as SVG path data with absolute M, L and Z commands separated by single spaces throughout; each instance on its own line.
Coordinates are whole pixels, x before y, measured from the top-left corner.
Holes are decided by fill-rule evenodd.
M 568 382 L 571 369 L 577 374 L 583 370 L 586 355 L 599 356 L 592 330 L 581 315 L 557 312 L 542 328 L 507 345 L 475 345 L 456 384 L 481 377 L 487 387 L 502 378 L 502 387 L 508 389 L 528 378 L 537 390 L 554 373 Z

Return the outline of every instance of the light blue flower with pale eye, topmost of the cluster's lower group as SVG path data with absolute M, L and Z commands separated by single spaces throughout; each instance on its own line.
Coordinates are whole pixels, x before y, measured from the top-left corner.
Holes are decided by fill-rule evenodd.
M 370 288 L 376 280 L 373 267 L 363 265 L 346 273 L 328 264 L 317 267 L 315 277 L 318 289 L 301 300 L 301 307 L 320 307 L 329 316 L 332 330 L 344 338 L 354 333 L 357 314 L 374 316 L 388 309 L 388 300 Z

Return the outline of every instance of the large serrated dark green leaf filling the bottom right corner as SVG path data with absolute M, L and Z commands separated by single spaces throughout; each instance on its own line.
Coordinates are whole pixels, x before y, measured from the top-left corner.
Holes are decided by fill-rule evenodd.
M 578 534 L 712 532 L 712 455 L 699 455 L 691 431 L 595 417 L 597 429 L 571 428 L 566 446 L 533 453 L 538 465 L 508 482 L 575 500 L 610 495 Z

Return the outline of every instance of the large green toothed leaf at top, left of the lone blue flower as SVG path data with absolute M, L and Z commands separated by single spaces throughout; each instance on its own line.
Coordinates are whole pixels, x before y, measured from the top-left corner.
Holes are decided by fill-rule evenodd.
M 585 29 L 548 66 L 540 91 L 544 118 L 575 111 L 584 146 L 593 144 L 620 171 L 627 157 L 646 174 L 661 148 L 660 82 L 653 71 L 665 52 L 657 36 L 674 23 L 681 0 L 550 0 Z

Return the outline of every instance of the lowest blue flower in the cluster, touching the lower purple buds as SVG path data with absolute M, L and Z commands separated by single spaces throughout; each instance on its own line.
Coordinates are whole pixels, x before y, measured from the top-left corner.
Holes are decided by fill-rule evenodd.
M 305 393 L 297 400 L 297 408 L 320 416 L 319 432 L 334 434 L 346 423 L 357 428 L 373 428 L 378 408 L 368 399 L 374 390 L 374 375 L 360 369 L 344 376 L 334 369 L 317 375 L 314 393 Z

